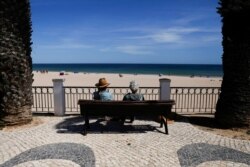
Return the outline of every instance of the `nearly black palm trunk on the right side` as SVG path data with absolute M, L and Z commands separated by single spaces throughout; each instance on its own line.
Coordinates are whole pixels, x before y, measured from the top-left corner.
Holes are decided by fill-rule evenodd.
M 225 126 L 250 126 L 250 1 L 221 0 L 223 82 L 215 118 Z

